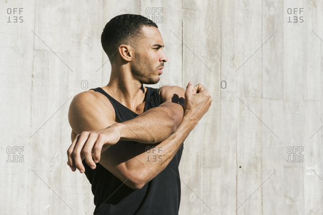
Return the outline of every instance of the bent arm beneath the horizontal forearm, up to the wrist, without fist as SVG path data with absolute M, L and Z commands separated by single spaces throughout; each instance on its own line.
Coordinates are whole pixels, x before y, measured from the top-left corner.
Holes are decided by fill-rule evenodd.
M 184 117 L 177 131 L 159 144 L 131 144 L 126 149 L 125 145 L 111 146 L 100 163 L 106 168 L 108 164 L 117 166 L 112 173 L 127 186 L 140 189 L 168 165 L 197 123 L 196 119 Z M 147 147 L 151 146 L 155 146 L 155 150 L 147 152 Z

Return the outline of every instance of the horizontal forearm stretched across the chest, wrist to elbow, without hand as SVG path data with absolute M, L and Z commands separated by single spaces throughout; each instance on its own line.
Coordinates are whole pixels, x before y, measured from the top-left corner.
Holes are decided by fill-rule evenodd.
M 159 143 L 173 134 L 180 125 L 183 108 L 179 104 L 168 103 L 149 109 L 138 117 L 113 125 L 120 132 L 121 141 L 139 143 Z

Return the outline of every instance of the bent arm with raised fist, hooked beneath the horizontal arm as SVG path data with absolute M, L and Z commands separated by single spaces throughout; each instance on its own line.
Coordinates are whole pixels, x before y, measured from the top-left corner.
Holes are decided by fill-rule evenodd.
M 148 144 L 144 143 L 121 142 L 104 151 L 99 163 L 127 186 L 141 189 L 168 165 L 188 134 L 209 109 L 212 97 L 202 85 L 196 88 L 200 93 L 193 90 L 192 84 L 187 86 L 183 120 L 169 138 L 159 144 L 149 144 L 149 148 L 155 147 L 155 150 L 147 151 Z M 152 157 L 158 159 L 149 162 Z

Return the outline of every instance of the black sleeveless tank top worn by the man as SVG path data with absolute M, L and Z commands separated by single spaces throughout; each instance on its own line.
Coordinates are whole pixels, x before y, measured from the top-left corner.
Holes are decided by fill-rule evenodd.
M 92 89 L 104 94 L 114 107 L 120 123 L 131 120 L 137 113 L 112 98 L 101 87 Z M 158 89 L 147 87 L 144 112 L 161 104 Z M 136 144 L 136 142 L 129 142 Z M 117 144 L 117 143 L 116 143 Z M 85 175 L 92 186 L 94 215 L 178 215 L 180 179 L 178 165 L 183 144 L 172 160 L 153 180 L 142 189 L 134 190 L 123 184 L 99 163 L 92 170 L 85 162 Z

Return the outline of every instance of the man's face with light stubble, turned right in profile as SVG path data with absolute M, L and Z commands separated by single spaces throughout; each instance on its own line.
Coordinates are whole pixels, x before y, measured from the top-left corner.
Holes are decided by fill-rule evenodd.
M 161 69 L 167 62 L 162 50 L 164 44 L 158 28 L 143 26 L 141 30 L 145 37 L 137 41 L 131 71 L 141 83 L 155 84 L 159 82 Z

